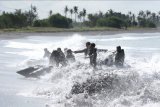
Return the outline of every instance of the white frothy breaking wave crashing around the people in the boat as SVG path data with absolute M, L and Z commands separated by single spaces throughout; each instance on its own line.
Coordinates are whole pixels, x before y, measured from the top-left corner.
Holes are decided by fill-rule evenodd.
M 137 37 L 138 38 L 138 37 Z M 146 37 L 150 38 L 150 37 Z M 156 36 L 157 38 L 157 36 Z M 126 39 L 122 37 L 122 39 Z M 128 38 L 126 40 L 130 40 Z M 138 38 L 139 39 L 139 38 Z M 57 47 L 69 47 L 73 50 L 83 48 L 83 44 L 90 41 L 80 35 L 74 35 L 57 41 L 49 42 L 44 46 L 49 50 Z M 91 41 L 93 41 L 91 39 Z M 106 41 L 105 41 L 106 42 Z M 16 44 L 16 43 L 11 43 Z M 22 44 L 21 44 L 22 45 Z M 33 50 L 36 52 L 40 49 L 42 44 L 36 45 Z M 8 45 L 14 46 L 14 45 Z M 26 44 L 24 44 L 26 46 Z M 28 46 L 26 46 L 27 48 Z M 103 47 L 99 45 L 99 47 Z M 110 47 L 110 46 L 108 46 Z M 106 47 L 106 48 L 108 48 Z M 125 47 L 125 46 L 124 46 Z M 23 46 L 21 47 L 23 48 Z M 157 48 L 158 49 L 158 48 Z M 114 50 L 114 49 L 113 49 Z M 127 49 L 126 49 L 127 50 Z M 129 50 L 128 50 L 129 51 Z M 34 53 L 30 53 L 34 54 Z M 106 58 L 111 52 L 99 53 L 99 60 Z M 37 82 L 47 85 L 36 86 L 30 90 L 22 91 L 18 95 L 30 97 L 43 97 L 49 99 L 46 107 L 159 107 L 160 106 L 160 55 L 155 53 L 151 56 L 139 56 L 126 53 L 125 67 L 116 68 L 98 66 L 96 70 L 89 66 L 89 60 L 83 58 L 83 54 L 76 54 L 76 62 L 69 64 L 67 67 L 60 67 L 52 69 L 52 72 L 41 76 Z M 41 55 L 39 55 L 39 58 Z M 30 58 L 30 57 L 29 57 Z M 37 58 L 37 60 L 39 60 Z M 36 61 L 37 61 L 36 60 Z M 43 59 L 41 59 L 43 60 Z M 36 65 L 32 60 L 31 65 Z M 21 64 L 28 64 L 28 59 Z M 38 61 L 37 61 L 38 62 Z M 40 61 L 41 62 L 41 61 Z M 43 62 L 43 61 L 42 61 Z M 46 62 L 47 63 L 47 62 Z M 28 64 L 29 65 L 29 64 Z M 102 87 L 99 91 L 94 91 L 93 94 L 82 92 L 79 94 L 71 94 L 71 90 L 75 84 L 87 83 L 90 84 L 99 82 L 103 78 L 110 78 L 105 81 L 108 87 Z M 94 86 L 97 90 L 97 87 Z

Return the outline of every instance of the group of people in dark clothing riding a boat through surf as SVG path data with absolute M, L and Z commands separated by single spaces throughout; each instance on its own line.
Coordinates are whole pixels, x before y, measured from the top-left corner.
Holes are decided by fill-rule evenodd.
M 89 58 L 90 65 L 96 68 L 97 66 L 97 53 L 98 52 L 107 52 L 106 49 L 97 49 L 95 43 L 86 43 L 86 48 L 78 51 L 72 51 L 71 49 L 64 49 L 64 52 L 61 50 L 61 48 L 57 48 L 57 50 L 53 50 L 52 53 L 48 51 L 47 48 L 44 49 L 44 58 L 49 58 L 49 63 L 52 66 L 66 66 L 68 62 L 75 62 L 75 56 L 73 53 L 84 53 L 85 58 Z M 113 58 L 114 56 L 114 58 Z M 124 63 L 124 50 L 121 49 L 121 46 L 117 46 L 116 51 L 112 52 L 112 55 L 110 55 L 108 58 L 106 58 L 104 61 L 101 61 L 100 64 L 112 66 L 116 65 L 117 67 L 122 67 Z

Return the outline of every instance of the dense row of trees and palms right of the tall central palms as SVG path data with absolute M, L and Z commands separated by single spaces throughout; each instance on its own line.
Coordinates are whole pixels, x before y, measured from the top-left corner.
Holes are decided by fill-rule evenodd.
M 114 12 L 112 9 L 106 13 L 88 14 L 88 26 L 107 26 L 115 28 L 127 27 L 150 27 L 155 28 L 160 24 L 160 12 L 158 14 L 149 10 L 139 11 L 136 16 L 132 12 L 123 14 L 121 12 Z

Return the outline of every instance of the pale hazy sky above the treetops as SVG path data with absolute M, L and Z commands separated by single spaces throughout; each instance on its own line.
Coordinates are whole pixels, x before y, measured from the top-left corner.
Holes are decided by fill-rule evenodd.
M 0 13 L 13 12 L 15 9 L 29 10 L 31 4 L 37 7 L 39 19 L 48 17 L 50 10 L 64 15 L 65 6 L 78 6 L 79 10 L 85 8 L 87 13 L 106 12 L 109 9 L 135 14 L 140 10 L 160 11 L 160 0 L 0 0 Z

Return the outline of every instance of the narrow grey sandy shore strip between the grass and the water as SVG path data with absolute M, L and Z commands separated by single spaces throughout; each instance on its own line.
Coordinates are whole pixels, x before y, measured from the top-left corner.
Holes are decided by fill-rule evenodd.
M 27 36 L 71 36 L 73 34 L 80 34 L 85 36 L 99 36 L 99 35 L 116 35 L 116 34 L 123 34 L 123 33 L 160 33 L 160 28 L 129 28 L 127 30 L 123 29 L 109 29 L 109 30 L 84 30 L 84 31 L 47 31 L 47 32 L 0 32 L 0 40 L 3 39 L 16 39 L 16 38 L 23 38 Z M 38 34 L 38 35 L 37 35 Z

